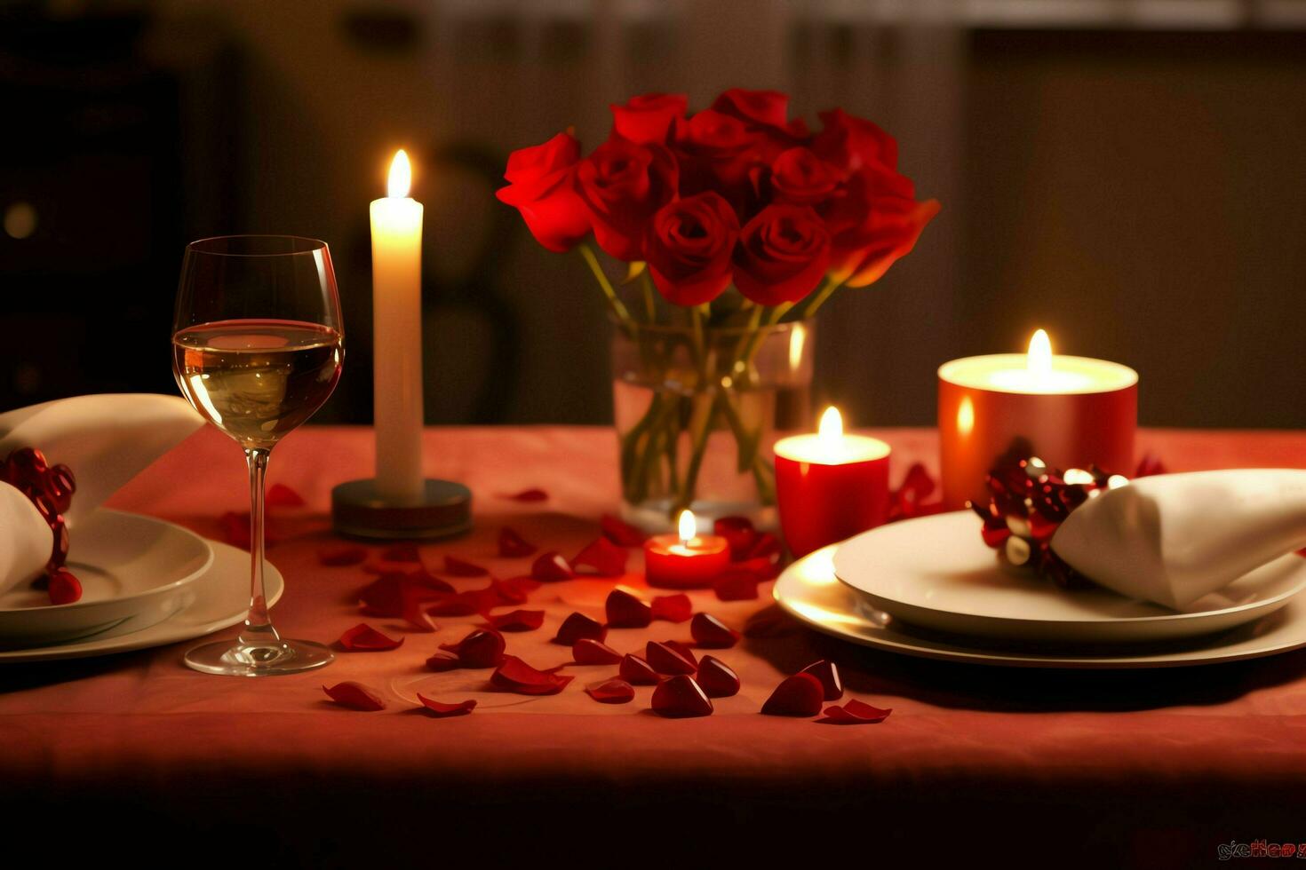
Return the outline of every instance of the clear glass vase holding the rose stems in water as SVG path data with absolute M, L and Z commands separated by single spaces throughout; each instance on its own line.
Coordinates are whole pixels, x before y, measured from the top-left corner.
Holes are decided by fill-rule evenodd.
M 814 322 L 628 323 L 613 339 L 623 518 L 669 531 L 688 507 L 776 524 L 772 446 L 811 425 Z

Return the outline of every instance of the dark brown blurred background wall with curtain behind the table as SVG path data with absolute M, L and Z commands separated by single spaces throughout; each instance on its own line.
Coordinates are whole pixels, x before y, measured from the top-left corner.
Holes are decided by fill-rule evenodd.
M 38 218 L 0 233 L 0 407 L 174 389 L 184 243 L 293 232 L 330 243 L 346 307 L 317 419 L 367 421 L 367 202 L 402 146 L 427 205 L 430 421 L 606 421 L 597 291 L 494 201 L 496 175 L 568 125 L 593 146 L 631 94 L 701 107 L 741 85 L 875 119 L 944 205 L 823 316 L 818 394 L 854 421 L 930 423 L 939 363 L 1043 326 L 1138 368 L 1147 424 L 1306 427 L 1306 18 L 970 5 L 0 3 L 0 214 Z

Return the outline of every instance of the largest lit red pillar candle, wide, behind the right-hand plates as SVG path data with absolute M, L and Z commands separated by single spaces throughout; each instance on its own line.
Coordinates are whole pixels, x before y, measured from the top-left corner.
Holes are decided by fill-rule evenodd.
M 1028 353 L 939 367 L 943 506 L 989 498 L 985 475 L 1020 443 L 1053 468 L 1134 471 L 1138 372 L 1106 360 L 1053 355 L 1038 330 Z

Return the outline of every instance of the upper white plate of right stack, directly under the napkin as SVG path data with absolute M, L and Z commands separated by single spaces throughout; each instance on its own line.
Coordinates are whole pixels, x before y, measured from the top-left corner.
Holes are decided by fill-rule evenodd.
M 880 526 L 849 539 L 835 573 L 879 610 L 959 635 L 998 640 L 1152 642 L 1252 622 L 1306 588 L 1306 558 L 1288 554 L 1182 612 L 1110 590 L 1064 590 L 1004 567 L 970 511 Z

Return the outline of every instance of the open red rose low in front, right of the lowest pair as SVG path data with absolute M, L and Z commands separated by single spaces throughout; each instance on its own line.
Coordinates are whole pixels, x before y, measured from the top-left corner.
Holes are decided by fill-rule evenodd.
M 829 265 L 829 231 L 807 206 L 769 205 L 739 233 L 735 287 L 759 305 L 797 303 Z

